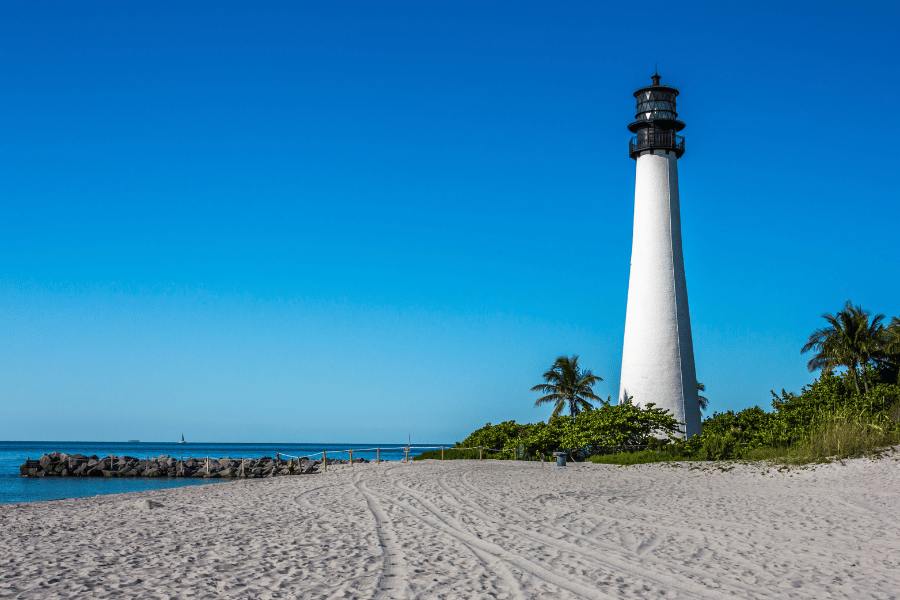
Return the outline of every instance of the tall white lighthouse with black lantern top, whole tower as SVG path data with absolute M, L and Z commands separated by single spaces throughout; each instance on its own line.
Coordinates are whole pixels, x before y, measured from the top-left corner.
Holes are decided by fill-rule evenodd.
M 676 132 L 684 123 L 675 112 L 678 90 L 652 79 L 634 93 L 637 115 L 628 126 L 637 177 L 619 400 L 668 409 L 691 437 L 701 425 L 678 205 L 684 138 Z

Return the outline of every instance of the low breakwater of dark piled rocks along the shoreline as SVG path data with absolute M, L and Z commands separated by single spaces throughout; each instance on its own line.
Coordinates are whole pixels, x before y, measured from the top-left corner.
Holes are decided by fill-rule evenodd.
M 369 462 L 362 458 L 354 463 Z M 349 464 L 349 460 L 328 459 L 328 464 Z M 168 455 L 156 458 L 65 454 L 51 452 L 38 460 L 26 460 L 19 467 L 23 477 L 234 477 L 247 479 L 319 472 L 321 460 L 272 458 L 186 458 Z

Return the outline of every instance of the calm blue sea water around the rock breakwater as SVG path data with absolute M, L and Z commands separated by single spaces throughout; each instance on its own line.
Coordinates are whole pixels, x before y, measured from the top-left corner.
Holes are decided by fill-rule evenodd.
M 449 447 L 452 444 L 444 444 Z M 403 444 L 348 443 L 348 444 L 173 444 L 169 442 L 0 442 L 0 504 L 9 502 L 35 502 L 38 500 L 60 500 L 62 498 L 83 498 L 100 494 L 121 494 L 183 485 L 204 485 L 221 483 L 221 479 L 180 479 L 180 478 L 97 478 L 97 477 L 19 477 L 19 466 L 26 459 L 38 459 L 44 453 L 65 452 L 66 454 L 96 454 L 99 457 L 114 454 L 135 458 L 155 458 L 169 456 L 195 458 L 260 458 L 274 457 L 276 452 L 292 456 L 312 456 L 325 450 L 328 458 L 349 458 L 348 448 L 381 447 L 382 460 L 403 458 Z M 410 456 L 416 451 L 414 445 Z M 422 444 L 421 446 L 440 446 Z M 315 456 L 313 458 L 321 458 Z M 353 458 L 375 458 L 375 450 L 357 452 Z M 225 480 L 227 481 L 227 480 Z

